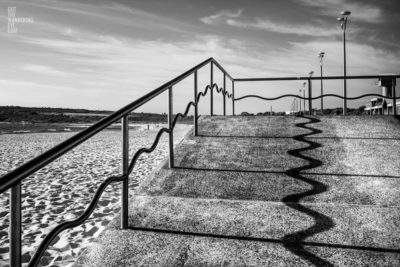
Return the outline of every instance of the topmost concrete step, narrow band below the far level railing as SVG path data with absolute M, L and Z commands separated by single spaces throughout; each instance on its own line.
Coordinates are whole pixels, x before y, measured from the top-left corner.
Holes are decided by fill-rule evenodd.
M 309 116 L 307 116 L 309 117 Z M 318 128 L 315 137 L 400 138 L 400 120 L 393 116 L 311 116 Z M 310 119 L 295 116 L 213 116 L 203 117 L 201 136 L 293 137 L 310 131 L 296 126 Z

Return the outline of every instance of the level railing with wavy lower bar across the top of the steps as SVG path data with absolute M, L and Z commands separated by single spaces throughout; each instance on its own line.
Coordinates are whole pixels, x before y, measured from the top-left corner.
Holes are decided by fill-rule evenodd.
M 268 97 L 261 97 L 258 95 L 245 95 L 241 97 L 237 97 L 233 99 L 233 102 L 240 101 L 245 98 L 259 98 L 263 100 L 268 100 L 268 101 L 273 101 L 273 100 L 278 100 L 281 98 L 286 98 L 286 97 L 294 97 L 294 98 L 299 98 L 302 100 L 308 100 L 308 112 L 309 114 L 312 114 L 312 100 L 324 98 L 324 97 L 337 97 L 341 98 L 344 101 L 347 100 L 356 100 L 360 99 L 363 97 L 371 96 L 371 97 L 382 97 L 384 99 L 392 99 L 393 101 L 393 115 L 397 114 L 397 108 L 396 108 L 396 99 L 400 99 L 400 97 L 396 97 L 396 79 L 400 78 L 400 75 L 365 75 L 365 76 L 326 76 L 326 77 L 279 77 L 279 78 L 240 78 L 240 79 L 234 79 L 234 83 L 237 82 L 260 82 L 260 81 L 295 81 L 295 80 L 304 80 L 307 81 L 308 83 L 308 96 L 307 97 L 302 97 L 296 94 L 285 94 L 285 95 L 280 95 L 277 97 L 273 98 L 268 98 Z M 387 97 L 381 94 L 363 94 L 359 95 L 356 97 L 344 97 L 341 95 L 337 94 L 322 94 L 317 97 L 312 97 L 312 80 L 352 80 L 352 79 L 391 79 L 392 81 L 392 96 Z M 347 107 L 347 104 L 343 105 L 344 107 Z M 304 105 L 305 109 L 305 105 Z M 344 114 L 346 114 L 346 111 L 343 111 Z

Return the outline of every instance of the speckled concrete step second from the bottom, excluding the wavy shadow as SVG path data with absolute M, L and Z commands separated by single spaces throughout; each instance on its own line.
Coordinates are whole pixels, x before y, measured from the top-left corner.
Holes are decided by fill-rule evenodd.
M 134 228 L 279 240 L 317 225 L 303 241 L 400 249 L 399 207 L 150 196 L 131 203 Z

